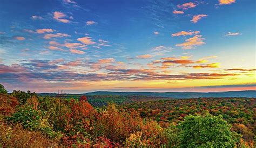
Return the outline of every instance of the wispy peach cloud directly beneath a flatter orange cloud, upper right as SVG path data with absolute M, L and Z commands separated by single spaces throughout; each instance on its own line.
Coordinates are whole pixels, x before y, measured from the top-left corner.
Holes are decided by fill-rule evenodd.
M 195 48 L 196 46 L 200 46 L 205 44 L 204 43 L 204 38 L 202 38 L 203 36 L 196 34 L 196 36 L 186 39 L 185 43 L 181 43 L 181 44 L 176 44 L 176 46 L 179 46 L 181 48 L 183 48 L 184 50 L 190 50 L 192 48 Z

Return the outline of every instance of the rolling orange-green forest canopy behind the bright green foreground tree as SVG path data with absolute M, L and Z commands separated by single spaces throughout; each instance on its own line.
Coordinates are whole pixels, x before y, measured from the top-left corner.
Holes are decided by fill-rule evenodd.
M 252 145 L 255 136 L 255 102 L 256 98 L 191 98 L 126 104 L 123 108 L 135 109 L 141 117 L 148 121 L 156 120 L 164 128 L 168 128 L 170 123 L 184 121 L 190 114 L 204 115 L 209 112 L 213 116 L 222 115 L 232 125 L 231 131 L 241 133 L 244 141 Z

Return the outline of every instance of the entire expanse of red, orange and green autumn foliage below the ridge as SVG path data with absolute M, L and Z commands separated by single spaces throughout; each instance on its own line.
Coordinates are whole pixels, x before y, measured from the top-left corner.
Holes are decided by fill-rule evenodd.
M 93 108 L 90 97 L 63 96 L 0 94 L 0 147 L 254 146 L 255 98 L 144 102 L 149 97 L 122 96 L 143 103 Z

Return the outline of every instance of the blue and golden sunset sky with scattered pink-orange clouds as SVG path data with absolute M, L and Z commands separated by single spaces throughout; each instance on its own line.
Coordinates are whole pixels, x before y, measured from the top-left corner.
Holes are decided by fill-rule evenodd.
M 255 1 L 0 1 L 0 83 L 36 93 L 256 90 Z

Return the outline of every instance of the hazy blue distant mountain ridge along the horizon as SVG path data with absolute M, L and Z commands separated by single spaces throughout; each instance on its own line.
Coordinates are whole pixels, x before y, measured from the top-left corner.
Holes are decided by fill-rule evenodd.
M 221 91 L 221 92 L 118 92 L 118 91 L 95 91 L 84 95 L 139 95 L 139 96 L 159 96 L 172 98 L 198 98 L 198 97 L 256 97 L 256 90 L 244 91 Z

